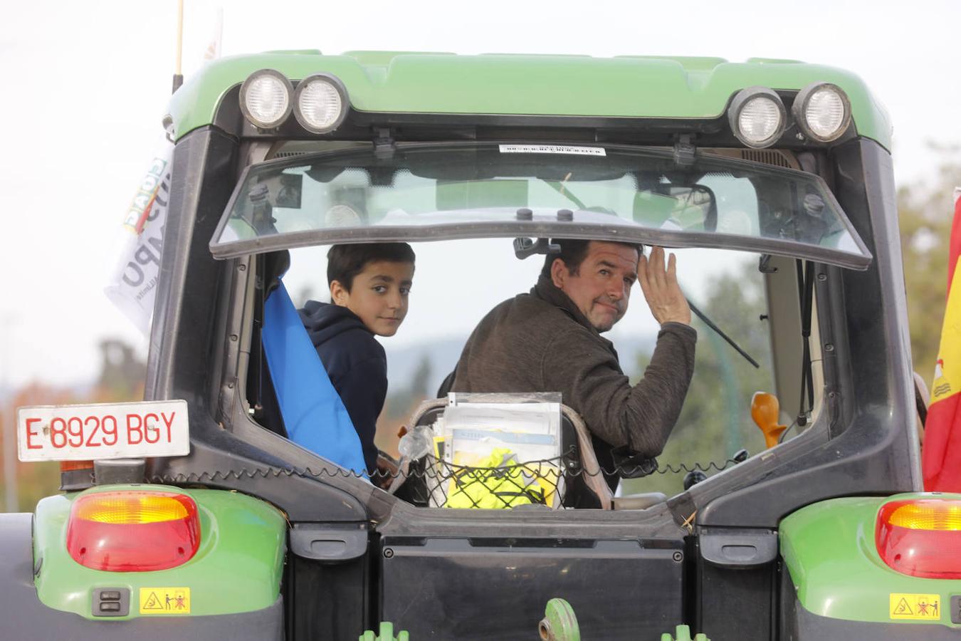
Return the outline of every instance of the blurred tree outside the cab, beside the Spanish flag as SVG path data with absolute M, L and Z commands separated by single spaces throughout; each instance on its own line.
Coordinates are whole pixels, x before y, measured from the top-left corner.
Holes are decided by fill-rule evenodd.
M 961 185 L 957 148 L 936 148 L 940 169 L 930 181 L 898 189 L 901 254 L 907 289 L 908 322 L 914 369 L 928 382 L 934 377 L 948 287 L 948 246 L 954 187 Z

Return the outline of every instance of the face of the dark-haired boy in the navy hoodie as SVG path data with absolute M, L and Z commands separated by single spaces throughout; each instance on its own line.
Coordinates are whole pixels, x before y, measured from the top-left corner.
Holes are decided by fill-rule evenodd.
M 410 262 L 368 262 L 354 277 L 350 291 L 339 281 L 331 284 L 334 305 L 348 308 L 379 336 L 393 336 L 407 316 L 407 295 L 413 283 Z

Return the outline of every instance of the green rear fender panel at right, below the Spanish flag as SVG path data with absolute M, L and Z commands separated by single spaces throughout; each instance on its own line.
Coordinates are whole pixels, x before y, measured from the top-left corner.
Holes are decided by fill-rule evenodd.
M 961 629 L 950 619 L 950 597 L 961 594 L 961 580 L 902 575 L 881 560 L 875 547 L 875 520 L 881 505 L 924 497 L 930 495 L 832 499 L 803 507 L 781 521 L 780 553 L 804 608 L 849 621 L 931 624 L 938 621 L 893 619 L 891 595 L 937 594 L 941 596 L 940 623 Z M 941 498 L 961 499 L 961 495 Z

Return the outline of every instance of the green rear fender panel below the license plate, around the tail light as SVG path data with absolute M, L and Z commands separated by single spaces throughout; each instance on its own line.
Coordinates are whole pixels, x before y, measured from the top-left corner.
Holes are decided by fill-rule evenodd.
M 155 572 L 104 572 L 77 563 L 66 551 L 66 526 L 73 501 L 81 494 L 116 490 L 178 492 L 200 511 L 201 543 L 183 565 Z M 130 619 L 139 613 L 139 590 L 189 587 L 190 616 L 259 610 L 280 594 L 286 519 L 273 505 L 222 490 L 165 485 L 104 485 L 81 494 L 43 499 L 34 524 L 37 596 L 54 609 L 91 616 L 94 588 L 130 589 Z M 164 615 L 160 615 L 164 616 Z M 103 620 L 100 617 L 97 620 Z

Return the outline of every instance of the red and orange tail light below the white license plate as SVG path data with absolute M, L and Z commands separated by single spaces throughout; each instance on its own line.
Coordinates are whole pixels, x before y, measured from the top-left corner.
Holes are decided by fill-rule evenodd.
M 166 570 L 199 545 L 197 504 L 172 492 L 86 494 L 73 502 L 66 529 L 67 552 L 94 570 Z

